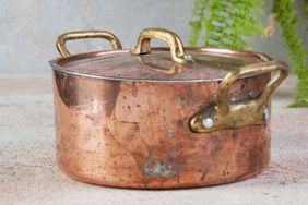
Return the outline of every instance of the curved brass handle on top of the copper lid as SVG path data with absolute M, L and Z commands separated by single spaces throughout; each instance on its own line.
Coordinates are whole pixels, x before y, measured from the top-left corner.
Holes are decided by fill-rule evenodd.
M 170 47 L 171 60 L 178 63 L 191 64 L 193 61 L 183 51 L 182 43 L 177 34 L 163 28 L 145 28 L 138 38 L 137 46 L 132 49 L 132 55 L 145 55 L 151 52 L 151 39 L 161 39 Z

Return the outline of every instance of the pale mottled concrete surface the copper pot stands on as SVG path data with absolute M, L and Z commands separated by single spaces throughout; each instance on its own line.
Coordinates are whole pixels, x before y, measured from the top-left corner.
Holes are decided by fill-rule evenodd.
M 272 161 L 241 182 L 135 191 L 74 181 L 56 166 L 50 71 L 0 72 L 0 204 L 308 204 L 308 109 L 286 108 L 296 80 L 273 100 Z

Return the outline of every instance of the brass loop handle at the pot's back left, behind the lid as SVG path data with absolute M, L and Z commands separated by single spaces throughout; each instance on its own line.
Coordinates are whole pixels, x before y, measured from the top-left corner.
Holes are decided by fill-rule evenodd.
M 111 44 L 112 49 L 116 50 L 116 49 L 122 48 L 120 40 L 117 38 L 117 36 L 111 34 L 110 32 L 106 32 L 106 31 L 76 31 L 76 32 L 69 32 L 69 33 L 62 34 L 58 37 L 56 46 L 57 46 L 59 53 L 62 57 L 71 56 L 68 48 L 66 47 L 66 43 L 68 40 L 83 39 L 83 38 L 104 38 L 104 39 L 107 39 Z

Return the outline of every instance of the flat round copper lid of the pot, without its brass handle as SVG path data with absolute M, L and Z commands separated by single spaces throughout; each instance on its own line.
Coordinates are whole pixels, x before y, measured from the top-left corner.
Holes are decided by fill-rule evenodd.
M 249 51 L 185 48 L 185 52 L 192 57 L 194 63 L 176 64 L 168 48 L 152 48 L 152 52 L 144 56 L 132 56 L 130 51 L 123 49 L 75 55 L 51 61 L 51 65 L 69 74 L 105 80 L 209 82 L 222 81 L 227 73 L 239 67 L 270 60 L 264 55 Z M 180 67 L 180 70 L 170 72 L 174 67 Z M 166 72 L 153 72 L 154 70 Z M 247 76 L 250 75 L 242 77 Z

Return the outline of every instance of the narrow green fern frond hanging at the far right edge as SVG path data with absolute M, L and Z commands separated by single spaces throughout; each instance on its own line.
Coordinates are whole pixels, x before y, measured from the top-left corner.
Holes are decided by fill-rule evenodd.
M 307 0 L 305 1 L 305 10 L 307 10 Z M 282 27 L 282 37 L 289 49 L 289 60 L 298 76 L 297 95 L 291 107 L 306 107 L 308 106 L 308 70 L 305 68 L 306 53 L 296 33 L 298 19 L 296 11 L 292 8 L 293 2 L 294 0 L 274 1 L 272 12 L 276 14 L 276 20 Z

